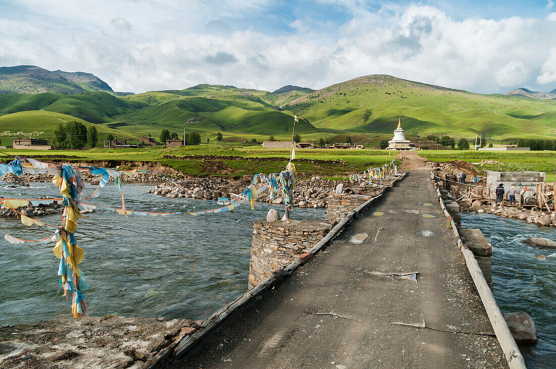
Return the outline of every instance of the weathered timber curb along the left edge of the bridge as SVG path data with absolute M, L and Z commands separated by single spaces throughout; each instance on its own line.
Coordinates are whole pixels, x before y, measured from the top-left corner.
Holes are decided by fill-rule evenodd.
M 255 286 L 253 289 L 245 292 L 245 294 L 237 297 L 236 300 L 230 302 L 226 306 L 222 307 L 219 311 L 212 314 L 209 318 L 204 320 L 201 325 L 193 331 L 190 335 L 184 335 L 177 338 L 176 341 L 168 345 L 167 347 L 163 348 L 159 351 L 155 356 L 151 358 L 151 360 L 147 361 L 142 368 L 143 369 L 152 369 L 152 368 L 161 368 L 165 364 L 169 363 L 170 361 L 174 360 L 175 358 L 181 357 L 187 353 L 193 346 L 195 346 L 199 341 L 202 340 L 205 336 L 207 336 L 212 330 L 214 330 L 220 323 L 224 322 L 228 317 L 230 317 L 236 310 L 240 307 L 245 306 L 248 302 L 255 299 L 256 297 L 260 297 L 260 295 L 265 292 L 266 290 L 270 289 L 272 286 L 277 285 L 285 276 L 291 274 L 293 270 L 295 270 L 298 266 L 304 264 L 307 260 L 311 259 L 317 252 L 322 250 L 328 242 L 330 242 L 334 237 L 336 237 L 348 224 L 353 223 L 353 221 L 360 216 L 360 212 L 366 208 L 368 208 L 371 204 L 375 203 L 375 201 L 381 199 L 386 192 L 401 179 L 405 178 L 408 174 L 406 171 L 403 175 L 399 176 L 399 178 L 395 179 L 391 186 L 387 186 L 381 192 L 380 195 L 374 196 L 373 198 L 365 201 L 364 204 L 361 204 L 353 211 L 350 211 L 349 214 L 345 216 L 338 224 L 336 224 L 332 229 L 324 236 L 315 246 L 313 246 L 309 252 L 300 255 L 297 260 L 291 262 L 291 264 L 287 265 L 283 269 L 276 270 L 272 273 L 270 277 L 262 281 L 260 284 Z M 302 257 L 303 256 L 303 257 Z

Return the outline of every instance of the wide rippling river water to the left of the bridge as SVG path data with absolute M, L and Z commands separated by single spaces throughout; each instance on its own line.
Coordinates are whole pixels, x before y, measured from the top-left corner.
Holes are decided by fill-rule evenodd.
M 92 186 L 87 186 L 90 193 Z M 128 210 L 174 212 L 218 208 L 198 199 L 147 194 L 152 185 L 123 184 Z M 50 183 L 7 188 L 6 198 L 59 197 Z M 121 208 L 113 184 L 91 204 Z M 80 270 L 90 289 L 84 292 L 88 315 L 187 317 L 204 319 L 247 291 L 253 222 L 266 219 L 270 205 L 244 203 L 230 213 L 185 216 L 133 216 L 115 211 L 85 214 L 78 221 L 77 244 L 85 249 Z M 283 208 L 275 207 L 284 213 Z M 296 208 L 294 219 L 324 219 L 324 209 Z M 60 224 L 61 215 L 40 218 Z M 52 229 L 25 226 L 15 218 L 0 227 L 22 239 L 42 239 Z M 0 238 L 0 325 L 71 316 L 58 284 L 54 243 L 14 245 Z

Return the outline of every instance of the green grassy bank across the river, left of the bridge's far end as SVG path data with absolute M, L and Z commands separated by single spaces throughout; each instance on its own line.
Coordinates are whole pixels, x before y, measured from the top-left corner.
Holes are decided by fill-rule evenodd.
M 90 149 L 90 150 L 0 150 L 3 153 L 44 157 L 44 160 L 71 162 L 112 161 L 113 165 L 126 165 L 127 161 L 147 161 L 160 163 L 190 175 L 239 176 L 258 173 L 273 173 L 284 169 L 284 160 L 247 160 L 249 158 L 289 158 L 288 149 L 265 149 L 261 146 L 239 146 L 231 144 L 183 146 L 180 148 L 141 148 L 141 149 Z M 56 158 L 52 158 L 52 155 Z M 166 159 L 165 155 L 183 157 Z M 188 158 L 190 155 L 216 155 L 216 158 Z M 217 158 L 221 156 L 222 159 Z M 229 159 L 238 156 L 241 159 Z M 310 178 L 320 175 L 323 178 L 362 173 L 373 166 L 382 166 L 396 158 L 395 153 L 385 150 L 339 150 L 339 149 L 296 149 L 297 159 L 338 160 L 341 163 L 315 163 L 294 161 L 297 176 Z M 4 156 L 4 161 L 11 160 Z

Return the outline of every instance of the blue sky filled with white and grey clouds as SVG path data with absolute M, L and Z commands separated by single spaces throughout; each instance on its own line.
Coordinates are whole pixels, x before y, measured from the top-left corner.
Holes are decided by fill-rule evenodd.
M 0 0 L 0 66 L 89 72 L 116 91 L 314 89 L 368 74 L 479 93 L 556 89 L 556 4 L 538 1 Z

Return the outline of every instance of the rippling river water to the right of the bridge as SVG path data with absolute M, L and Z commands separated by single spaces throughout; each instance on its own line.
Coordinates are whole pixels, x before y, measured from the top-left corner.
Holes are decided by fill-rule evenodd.
M 556 229 L 477 213 L 463 213 L 461 225 L 479 228 L 492 244 L 494 296 L 500 310 L 525 311 L 537 326 L 537 345 L 520 346 L 527 367 L 556 367 L 556 250 L 522 243 L 529 237 L 556 241 Z

